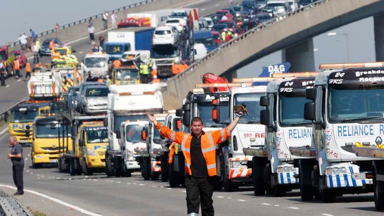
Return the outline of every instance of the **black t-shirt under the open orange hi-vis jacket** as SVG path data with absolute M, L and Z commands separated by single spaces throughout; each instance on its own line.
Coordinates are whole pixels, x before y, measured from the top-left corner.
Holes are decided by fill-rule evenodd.
M 190 140 L 190 170 L 193 177 L 208 176 L 206 162 L 201 150 L 201 136 L 203 134 L 204 131 L 202 131 L 200 137 L 197 138 L 192 133 L 192 139 Z

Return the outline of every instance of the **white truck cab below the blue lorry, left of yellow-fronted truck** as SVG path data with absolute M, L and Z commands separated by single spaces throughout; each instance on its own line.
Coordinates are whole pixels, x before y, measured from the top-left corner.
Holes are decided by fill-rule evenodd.
M 87 53 L 84 57 L 84 76 L 86 80 L 105 78 L 109 73 L 108 54 L 106 53 Z

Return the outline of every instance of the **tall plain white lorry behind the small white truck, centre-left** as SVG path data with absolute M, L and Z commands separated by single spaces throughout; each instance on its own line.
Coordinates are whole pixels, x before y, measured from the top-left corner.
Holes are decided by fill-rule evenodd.
M 147 121 L 145 111 L 162 113 L 163 101 L 159 89 L 158 83 L 109 86 L 107 122 L 104 122 L 104 125 L 108 127 L 109 149 L 105 153 L 106 174 L 108 176 L 120 176 L 122 174 L 121 164 L 123 162 L 121 160 L 124 150 L 116 137 L 121 122 L 127 120 Z

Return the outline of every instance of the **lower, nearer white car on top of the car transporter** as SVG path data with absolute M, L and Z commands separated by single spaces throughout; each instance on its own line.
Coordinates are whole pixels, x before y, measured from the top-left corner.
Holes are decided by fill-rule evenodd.
M 178 41 L 179 32 L 174 26 L 160 26 L 154 29 L 152 44 L 175 44 Z

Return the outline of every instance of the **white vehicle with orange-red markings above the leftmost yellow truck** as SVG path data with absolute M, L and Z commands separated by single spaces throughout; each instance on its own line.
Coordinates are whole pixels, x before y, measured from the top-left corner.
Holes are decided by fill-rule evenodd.
M 30 98 L 58 97 L 62 93 L 62 79 L 59 72 L 35 72 L 27 84 Z

